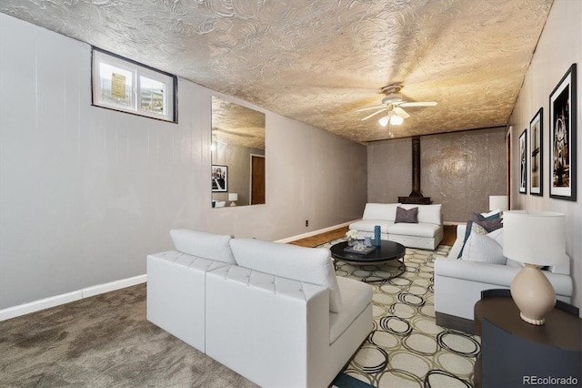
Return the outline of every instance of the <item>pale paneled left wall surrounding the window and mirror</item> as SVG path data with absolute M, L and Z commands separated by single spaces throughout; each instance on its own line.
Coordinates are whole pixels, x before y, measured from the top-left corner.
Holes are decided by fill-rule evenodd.
M 277 240 L 361 216 L 366 148 L 271 112 L 266 205 L 211 209 L 213 92 L 179 79 L 178 124 L 92 107 L 90 57 L 0 14 L 0 311 L 143 275 L 171 228 Z

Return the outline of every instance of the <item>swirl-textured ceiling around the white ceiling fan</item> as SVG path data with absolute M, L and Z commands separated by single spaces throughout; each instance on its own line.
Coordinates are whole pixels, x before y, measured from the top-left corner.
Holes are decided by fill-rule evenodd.
M 552 0 L 2 0 L 0 12 L 359 142 L 504 126 Z M 380 115 L 381 116 L 381 115 Z

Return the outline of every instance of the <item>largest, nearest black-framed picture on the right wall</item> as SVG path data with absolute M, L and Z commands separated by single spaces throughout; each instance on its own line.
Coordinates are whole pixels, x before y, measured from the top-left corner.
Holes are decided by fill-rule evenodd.
M 576 64 L 549 95 L 549 196 L 576 200 Z

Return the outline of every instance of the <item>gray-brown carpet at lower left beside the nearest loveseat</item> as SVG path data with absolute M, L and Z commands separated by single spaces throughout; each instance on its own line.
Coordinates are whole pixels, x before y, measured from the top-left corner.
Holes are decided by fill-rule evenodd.
M 256 387 L 146 320 L 146 284 L 0 322 L 0 387 Z

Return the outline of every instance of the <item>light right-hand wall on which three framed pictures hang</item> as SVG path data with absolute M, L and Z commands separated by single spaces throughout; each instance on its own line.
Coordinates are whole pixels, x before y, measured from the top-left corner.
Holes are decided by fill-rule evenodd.
M 549 95 L 567 69 L 577 63 L 577 201 L 549 198 Z M 537 44 L 516 107 L 510 117 L 512 159 L 519 160 L 518 138 L 537 109 L 544 108 L 543 120 L 543 196 L 520 194 L 519 163 L 512 167 L 512 209 L 549 210 L 566 214 L 567 253 L 572 258 L 574 300 L 582 308 L 582 2 L 556 0 Z M 531 149 L 529 145 L 527 149 Z M 529 165 L 528 165 L 529 166 Z M 529 182 L 527 182 L 529 184 Z M 529 192 L 529 189 L 527 189 Z M 532 241 L 536 243 L 536 241 Z

